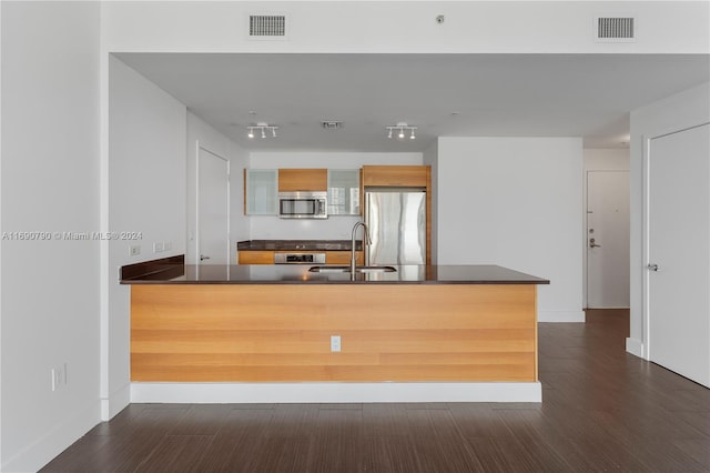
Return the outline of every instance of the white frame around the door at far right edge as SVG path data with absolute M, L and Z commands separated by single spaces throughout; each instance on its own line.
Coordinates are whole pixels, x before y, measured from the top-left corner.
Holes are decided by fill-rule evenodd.
M 642 194 L 642 205 L 641 205 L 641 333 L 643 334 L 642 346 L 641 346 L 641 358 L 650 361 L 651 354 L 651 338 L 650 338 L 650 324 L 651 324 L 651 294 L 650 294 L 650 273 L 648 265 L 651 263 L 651 248 L 650 248 L 650 239 L 651 239 L 651 227 L 650 227 L 650 218 L 651 218 L 651 209 L 650 209 L 650 184 L 651 184 L 651 140 L 656 140 L 663 137 L 669 137 L 676 133 L 682 133 L 683 131 L 693 130 L 696 128 L 706 127 L 710 124 L 710 122 L 698 123 L 691 127 L 684 127 L 681 129 L 677 129 L 673 131 L 655 134 L 652 137 L 641 135 L 642 143 L 642 162 L 641 162 L 641 175 L 642 175 L 642 184 L 641 184 L 641 194 Z

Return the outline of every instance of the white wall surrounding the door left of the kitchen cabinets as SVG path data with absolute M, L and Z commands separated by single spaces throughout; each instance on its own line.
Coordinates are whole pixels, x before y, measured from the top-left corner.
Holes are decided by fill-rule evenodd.
M 187 252 L 185 262 L 196 263 L 197 145 L 230 161 L 230 261 L 236 261 L 236 242 L 248 240 L 250 219 L 244 215 L 244 168 L 248 153 L 200 117 L 187 112 Z

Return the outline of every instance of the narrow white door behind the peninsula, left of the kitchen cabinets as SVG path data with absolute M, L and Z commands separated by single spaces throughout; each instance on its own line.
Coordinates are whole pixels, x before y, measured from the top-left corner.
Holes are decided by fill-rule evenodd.
M 197 151 L 199 263 L 230 262 L 230 167 L 229 161 L 203 148 Z

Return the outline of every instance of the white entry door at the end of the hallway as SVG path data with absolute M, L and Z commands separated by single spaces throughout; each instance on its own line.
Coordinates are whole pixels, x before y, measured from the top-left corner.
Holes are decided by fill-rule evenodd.
M 629 171 L 587 172 L 587 306 L 629 306 Z

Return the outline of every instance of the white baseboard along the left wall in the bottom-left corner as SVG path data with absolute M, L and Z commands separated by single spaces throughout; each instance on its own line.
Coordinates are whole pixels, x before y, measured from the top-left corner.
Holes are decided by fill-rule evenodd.
M 93 405 L 73 412 L 65 420 L 50 429 L 36 442 L 12 455 L 0 465 L 2 472 L 36 472 L 62 453 L 69 445 L 81 439 L 100 422 L 101 405 Z

